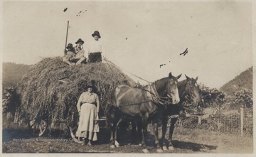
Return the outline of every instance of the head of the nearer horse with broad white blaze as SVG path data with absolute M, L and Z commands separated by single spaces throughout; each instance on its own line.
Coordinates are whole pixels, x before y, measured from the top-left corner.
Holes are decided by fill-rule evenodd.
M 169 73 L 169 77 L 162 78 L 155 82 L 156 91 L 159 94 L 159 97 L 168 97 L 171 104 L 178 104 L 180 98 L 178 96 L 178 79 L 181 75 L 175 77 Z

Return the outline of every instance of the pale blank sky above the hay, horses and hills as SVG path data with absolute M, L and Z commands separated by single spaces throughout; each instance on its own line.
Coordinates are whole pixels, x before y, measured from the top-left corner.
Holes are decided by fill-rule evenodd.
M 141 84 L 134 75 L 154 82 L 172 72 L 218 89 L 252 67 L 250 1 L 3 1 L 1 7 L 4 63 L 63 56 L 69 21 L 68 43 L 82 38 L 87 50 L 100 31 L 103 55 Z

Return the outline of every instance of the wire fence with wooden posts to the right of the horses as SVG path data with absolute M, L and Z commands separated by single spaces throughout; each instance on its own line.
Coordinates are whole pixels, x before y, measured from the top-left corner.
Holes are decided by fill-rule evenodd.
M 229 112 L 218 109 L 215 114 L 209 114 L 208 117 L 188 117 L 185 120 L 179 120 L 176 125 L 253 136 L 252 108 L 240 108 Z

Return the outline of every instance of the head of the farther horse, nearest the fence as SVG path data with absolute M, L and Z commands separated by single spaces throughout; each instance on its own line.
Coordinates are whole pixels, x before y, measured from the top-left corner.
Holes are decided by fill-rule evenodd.
M 198 92 L 199 87 L 197 85 L 198 77 L 195 79 L 192 77 L 186 76 L 186 80 L 178 82 L 178 92 L 181 98 L 181 104 L 183 107 L 190 107 L 196 109 L 193 112 L 201 112 L 198 106 L 201 101 L 200 94 Z M 192 110 L 191 110 L 192 111 Z

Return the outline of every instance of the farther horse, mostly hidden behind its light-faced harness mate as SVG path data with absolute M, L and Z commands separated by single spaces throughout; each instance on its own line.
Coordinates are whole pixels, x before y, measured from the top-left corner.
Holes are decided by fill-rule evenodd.
M 172 135 L 174 133 L 174 125 L 178 119 L 178 117 L 171 118 L 169 139 L 166 142 L 165 134 L 167 129 L 168 117 L 171 115 L 180 114 L 181 110 L 186 112 L 191 112 L 193 114 L 201 113 L 201 109 L 198 106 L 199 102 L 201 101 L 201 97 L 198 92 L 199 87 L 196 83 L 197 80 L 198 80 L 198 77 L 196 77 L 196 79 L 193 79 L 186 76 L 185 80 L 178 82 L 178 95 L 180 97 L 180 102 L 178 103 L 178 105 L 171 104 L 166 106 L 166 112 L 164 113 L 164 117 L 162 119 L 162 138 L 161 138 L 161 141 L 163 142 L 164 151 L 168 150 L 168 148 L 171 151 L 174 150 L 174 146 L 172 144 Z

